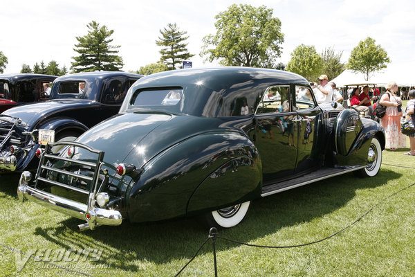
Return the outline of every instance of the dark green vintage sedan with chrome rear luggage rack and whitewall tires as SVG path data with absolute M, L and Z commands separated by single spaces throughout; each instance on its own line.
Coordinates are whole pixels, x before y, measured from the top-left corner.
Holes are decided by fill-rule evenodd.
M 323 111 L 313 95 L 298 100 L 300 88 L 312 93 L 297 74 L 246 67 L 146 76 L 118 115 L 48 144 L 36 177 L 22 173 L 19 199 L 86 220 L 80 230 L 199 214 L 231 227 L 252 199 L 347 172 L 376 175 L 380 125 L 352 109 Z

